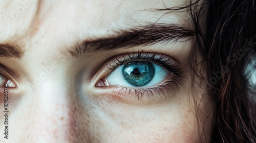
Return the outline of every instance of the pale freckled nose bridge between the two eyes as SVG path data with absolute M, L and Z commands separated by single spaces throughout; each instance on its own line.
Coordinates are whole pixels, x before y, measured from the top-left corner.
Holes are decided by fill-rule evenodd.
M 75 140 L 71 134 L 77 130 L 75 95 L 63 75 L 53 71 L 34 89 L 33 107 L 37 115 L 34 135 L 41 142 Z

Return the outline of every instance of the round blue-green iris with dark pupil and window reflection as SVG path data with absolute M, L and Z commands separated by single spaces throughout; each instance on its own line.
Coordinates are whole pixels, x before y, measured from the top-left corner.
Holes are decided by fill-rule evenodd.
M 154 65 L 150 62 L 132 62 L 123 66 L 124 79 L 134 86 L 144 86 L 153 79 L 155 75 Z

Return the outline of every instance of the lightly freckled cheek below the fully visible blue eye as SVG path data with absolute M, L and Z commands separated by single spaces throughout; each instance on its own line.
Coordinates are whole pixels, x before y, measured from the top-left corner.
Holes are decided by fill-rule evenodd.
M 100 108 L 106 117 L 111 118 L 112 122 L 108 124 L 108 128 L 114 129 L 112 138 L 117 140 L 193 142 L 196 138 L 195 115 L 189 107 L 175 102 L 151 107 L 104 105 Z

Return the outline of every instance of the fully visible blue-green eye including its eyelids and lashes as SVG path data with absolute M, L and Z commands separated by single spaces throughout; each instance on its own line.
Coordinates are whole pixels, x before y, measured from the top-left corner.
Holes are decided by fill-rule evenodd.
M 135 96 L 142 100 L 144 95 L 148 99 L 162 95 L 165 98 L 165 94 L 175 91 L 182 83 L 183 69 L 172 57 L 141 52 L 111 58 L 98 75 L 102 78 L 95 86 L 102 88 L 103 93 L 122 98 Z

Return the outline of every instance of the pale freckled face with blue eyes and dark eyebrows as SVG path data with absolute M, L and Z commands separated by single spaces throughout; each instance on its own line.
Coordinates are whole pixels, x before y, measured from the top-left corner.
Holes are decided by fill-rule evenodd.
M 153 10 L 185 1 L 44 1 L 37 11 L 38 3 L 0 2 L 1 109 L 9 83 L 1 142 L 209 140 L 211 100 L 196 82 L 190 92 L 195 37 L 174 30 L 190 28 L 189 14 Z M 124 65 L 153 65 L 157 78 L 128 84 Z

